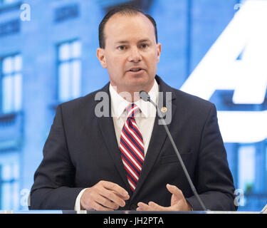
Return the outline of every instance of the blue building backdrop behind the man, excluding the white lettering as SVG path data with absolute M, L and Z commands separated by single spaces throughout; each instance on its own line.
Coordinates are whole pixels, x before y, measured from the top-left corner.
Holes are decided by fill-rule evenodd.
M 56 106 L 108 83 L 108 72 L 95 55 L 98 24 L 108 9 L 124 3 L 140 6 L 155 18 L 162 43 L 157 74 L 170 86 L 181 88 L 239 10 L 236 4 L 243 2 L 0 0 L 0 209 L 27 209 L 33 174 L 41 162 Z M 28 4 L 28 8 L 21 9 L 22 4 Z M 64 45 L 74 51 L 61 58 Z M 7 59 L 13 64 L 11 68 Z M 73 89 L 70 83 L 68 91 L 59 69 L 63 63 L 71 68 L 73 61 L 80 73 L 70 73 L 70 77 L 76 77 L 73 80 L 78 86 Z M 12 81 L 15 76 L 21 79 Z M 17 91 L 12 93 L 16 94 L 14 98 L 6 95 L 11 88 Z M 211 100 L 218 110 L 229 108 L 225 94 L 232 95 L 232 91 Z M 266 100 L 244 110 L 259 107 L 263 110 Z M 225 143 L 239 210 L 260 211 L 267 204 L 266 142 Z

